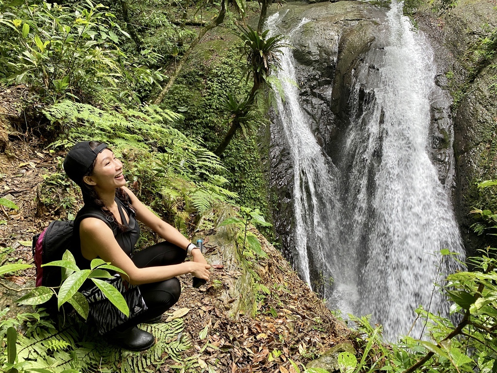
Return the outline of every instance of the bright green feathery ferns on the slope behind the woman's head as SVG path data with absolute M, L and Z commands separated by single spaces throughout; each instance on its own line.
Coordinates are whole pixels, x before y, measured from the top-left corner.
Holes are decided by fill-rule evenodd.
M 219 158 L 168 123 L 181 118 L 155 105 L 138 109 L 103 110 L 73 101 L 62 101 L 44 111 L 54 127 L 62 130 L 55 147 L 69 148 L 93 139 L 112 146 L 125 163 L 126 177 L 139 181 L 142 199 L 163 217 L 184 227 L 176 208 L 203 213 L 238 195 L 225 188 L 226 170 Z

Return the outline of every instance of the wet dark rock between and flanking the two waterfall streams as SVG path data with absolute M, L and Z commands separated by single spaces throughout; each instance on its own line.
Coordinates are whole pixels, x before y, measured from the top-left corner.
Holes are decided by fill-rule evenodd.
M 304 24 L 294 35 L 292 44 L 296 61 L 297 84 L 301 103 L 312 118 L 312 131 L 325 153 L 335 164 L 341 164 L 345 129 L 351 118 L 375 99 L 374 92 L 359 87 L 358 101 L 351 104 L 357 85 L 355 74 L 363 64 L 364 55 L 384 53 L 375 43 L 385 31 L 385 13 L 388 9 L 361 1 L 339 1 L 319 4 L 285 5 L 288 9 L 282 24 L 287 33 L 301 19 Z M 383 32 L 383 34 L 385 34 Z M 374 49 L 378 48 L 378 49 Z M 368 67 L 371 79 L 381 82 L 378 68 Z M 375 74 L 376 73 L 376 74 Z M 432 97 L 429 152 L 436 165 L 439 179 L 447 192 L 453 192 L 454 171 L 451 145 L 453 141 L 452 116 L 448 109 L 448 82 L 444 72 L 437 74 L 440 87 Z M 354 97 L 355 99 L 355 97 Z M 359 111 L 359 112 L 357 112 Z M 294 210 L 292 194 L 294 175 L 292 162 L 277 115 L 272 115 L 270 126 L 269 182 L 277 237 L 288 257 L 293 242 Z M 346 166 L 345 166 L 346 167 Z

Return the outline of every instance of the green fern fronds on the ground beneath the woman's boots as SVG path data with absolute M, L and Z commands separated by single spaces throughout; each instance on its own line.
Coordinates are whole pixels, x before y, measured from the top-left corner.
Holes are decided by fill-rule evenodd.
M 166 358 L 176 362 L 191 348 L 182 335 L 182 319 L 144 325 L 154 334 L 157 343 L 147 353 L 131 352 L 109 345 L 85 324 L 69 320 L 57 330 L 37 328 L 30 336 L 19 335 L 17 359 L 24 362 L 25 370 L 45 369 L 59 373 L 65 370 L 79 372 L 156 372 Z M 5 351 L 0 354 L 4 359 Z

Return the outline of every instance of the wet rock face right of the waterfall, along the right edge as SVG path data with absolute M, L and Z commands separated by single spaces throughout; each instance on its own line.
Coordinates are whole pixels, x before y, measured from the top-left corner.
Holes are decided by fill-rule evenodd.
M 442 113 L 442 119 L 436 114 L 434 122 L 441 122 L 443 128 L 447 121 L 453 123 L 453 203 L 467 255 L 477 255 L 477 249 L 497 244 L 490 236 L 472 232 L 475 220 L 470 214 L 474 208 L 497 210 L 496 190 L 477 187 L 479 182 L 497 178 L 497 95 L 492 89 L 497 56 L 486 58 L 481 45 L 497 27 L 497 9 L 490 0 L 458 0 L 450 11 L 436 14 L 425 6 L 414 17 L 435 52 L 436 84 L 455 98 L 452 111 Z M 441 142 L 440 136 L 433 138 L 435 145 Z

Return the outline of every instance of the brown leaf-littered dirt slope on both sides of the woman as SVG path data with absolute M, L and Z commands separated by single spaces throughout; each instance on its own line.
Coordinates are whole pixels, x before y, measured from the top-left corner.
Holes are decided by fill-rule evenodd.
M 9 141 L 0 153 L 0 197 L 10 199 L 18 210 L 0 206 L 1 265 L 15 262 L 33 263 L 31 240 L 50 220 L 58 216 L 51 212 L 37 214 L 36 191 L 43 176 L 55 172 L 56 157 L 43 149 L 36 139 Z M 259 273 L 269 294 L 260 293 L 254 317 L 239 313 L 227 316 L 233 299 L 220 297 L 219 288 L 227 287 L 236 271 L 228 271 L 222 264 L 213 266 L 211 281 L 200 289 L 191 286 L 191 276 L 181 277 L 182 295 L 170 310 L 188 308 L 184 316 L 185 332 L 192 349 L 187 354 L 198 357 L 198 370 L 207 365 L 216 372 L 296 372 L 289 359 L 306 364 L 340 342 L 353 343 L 350 331 L 326 308 L 324 302 L 300 280 L 281 254 L 260 236 L 268 254 Z M 216 247 L 206 245 L 206 258 Z M 32 284 L 33 269 L 19 276 L 4 277 L 0 284 Z M 3 286 L 4 287 L 4 286 Z M 6 293 L 0 287 L 1 297 Z M 169 313 L 170 313 L 169 312 Z M 164 315 L 166 319 L 167 313 Z M 207 328 L 207 335 L 201 331 Z M 207 346 L 206 346 L 207 344 Z M 203 349 L 205 347 L 205 349 Z M 160 372 L 177 372 L 176 365 L 166 360 Z M 300 366 L 303 371 L 302 367 Z

